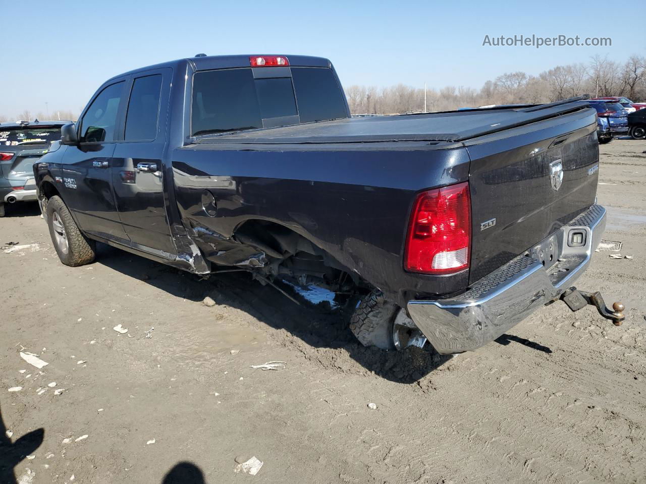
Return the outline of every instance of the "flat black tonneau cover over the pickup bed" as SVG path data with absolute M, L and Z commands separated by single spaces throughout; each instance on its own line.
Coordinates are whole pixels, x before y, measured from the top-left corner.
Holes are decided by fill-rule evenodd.
M 586 108 L 580 98 L 535 106 L 359 117 L 198 136 L 196 143 L 316 144 L 464 141 Z

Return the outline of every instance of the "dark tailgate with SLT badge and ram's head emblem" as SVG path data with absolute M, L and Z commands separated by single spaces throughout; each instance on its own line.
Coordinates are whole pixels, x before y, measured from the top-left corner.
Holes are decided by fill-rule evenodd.
M 594 203 L 599 169 L 594 110 L 468 143 L 474 283 Z M 546 265 L 550 261 L 547 254 Z

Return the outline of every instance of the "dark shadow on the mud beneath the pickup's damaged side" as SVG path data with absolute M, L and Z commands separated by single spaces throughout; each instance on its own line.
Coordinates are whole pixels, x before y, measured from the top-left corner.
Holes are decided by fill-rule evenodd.
M 307 359 L 337 371 L 373 372 L 390 381 L 412 384 L 452 359 L 427 350 L 428 345 L 424 350 L 408 348 L 400 352 L 365 348 L 348 328 L 347 311 L 326 314 L 315 307 L 297 305 L 275 288 L 253 281 L 246 272 L 213 275 L 204 281 L 194 274 L 102 244 L 98 247 L 97 263 L 195 303 L 211 296 L 217 305 L 237 308 L 269 327 L 286 330 L 295 337 L 286 336 L 286 345 L 297 348 Z M 328 351 L 316 350 L 322 348 Z M 348 361 L 344 354 L 360 367 Z

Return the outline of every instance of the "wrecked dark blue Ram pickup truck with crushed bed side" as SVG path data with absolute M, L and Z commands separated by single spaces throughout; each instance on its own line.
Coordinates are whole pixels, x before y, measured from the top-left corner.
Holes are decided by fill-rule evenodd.
M 559 298 L 623 319 L 572 287 L 606 216 L 581 99 L 352 119 L 328 59 L 200 55 L 113 77 L 61 132 L 34 174 L 70 266 L 100 241 L 315 283 L 386 349 L 475 350 Z

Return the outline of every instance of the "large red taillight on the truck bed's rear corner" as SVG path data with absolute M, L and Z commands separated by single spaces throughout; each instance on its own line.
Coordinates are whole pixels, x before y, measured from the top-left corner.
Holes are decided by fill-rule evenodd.
M 469 267 L 471 202 L 467 182 L 422 192 L 408 226 L 404 267 L 446 274 Z

